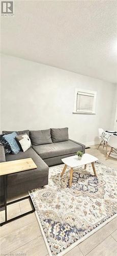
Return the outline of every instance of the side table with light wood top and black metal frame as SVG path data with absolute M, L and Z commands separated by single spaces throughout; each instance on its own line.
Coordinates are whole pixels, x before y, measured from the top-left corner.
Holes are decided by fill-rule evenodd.
M 0 207 L 1 208 L 5 207 L 5 221 L 0 223 L 0 226 L 3 226 L 4 224 L 14 221 L 16 219 L 19 219 L 27 214 L 31 214 L 32 212 L 35 211 L 35 207 L 33 205 L 33 202 L 32 202 L 32 199 L 30 196 L 23 197 L 21 199 L 7 203 L 7 176 L 9 174 L 20 173 L 20 172 L 24 172 L 24 170 L 30 170 L 30 169 L 35 169 L 35 168 L 37 168 L 37 165 L 34 163 L 32 158 L 25 158 L 25 159 L 0 163 L 0 176 L 4 176 L 4 205 L 1 205 Z M 19 216 L 16 216 L 16 217 L 8 220 L 7 219 L 7 206 L 10 204 L 14 204 L 16 202 L 22 201 L 24 199 L 30 200 L 30 203 L 32 205 L 32 210 L 27 211 L 24 214 L 21 214 Z

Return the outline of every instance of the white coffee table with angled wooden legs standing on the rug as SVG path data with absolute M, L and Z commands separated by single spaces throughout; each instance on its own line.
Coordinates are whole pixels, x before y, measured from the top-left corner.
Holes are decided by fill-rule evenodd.
M 84 169 L 86 168 L 86 164 L 91 163 L 94 171 L 94 175 L 97 177 L 96 170 L 95 170 L 95 165 L 94 162 L 97 161 L 98 158 L 90 155 L 90 154 L 83 154 L 81 160 L 78 160 L 77 156 L 72 156 L 72 157 L 66 157 L 62 159 L 62 162 L 65 163 L 63 172 L 61 174 L 61 178 L 63 177 L 65 170 L 67 166 L 70 167 L 70 181 L 69 181 L 69 187 L 72 185 L 72 176 L 73 176 L 73 168 L 82 166 L 84 165 Z

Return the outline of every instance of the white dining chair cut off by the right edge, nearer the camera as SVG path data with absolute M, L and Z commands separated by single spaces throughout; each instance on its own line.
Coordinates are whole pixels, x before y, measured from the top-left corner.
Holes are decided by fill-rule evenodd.
M 108 145 L 110 146 L 110 152 L 107 155 L 106 159 L 108 159 L 108 157 L 111 154 L 113 154 L 113 156 L 115 155 L 117 157 L 117 136 L 111 135 L 108 139 Z

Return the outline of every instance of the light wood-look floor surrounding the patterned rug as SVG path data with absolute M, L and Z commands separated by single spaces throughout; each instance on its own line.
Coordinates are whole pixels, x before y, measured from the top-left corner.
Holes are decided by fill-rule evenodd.
M 117 169 L 117 160 L 106 158 L 106 150 L 97 145 L 91 146 L 86 153 L 96 156 L 100 161 Z M 8 214 L 13 217 L 30 209 L 28 200 L 9 205 Z M 1 220 L 4 218 L 0 212 Z M 44 243 L 35 213 L 22 217 L 0 228 L 0 255 L 46 256 Z M 117 255 L 117 218 L 114 218 L 92 236 L 74 247 L 66 256 L 116 256 Z

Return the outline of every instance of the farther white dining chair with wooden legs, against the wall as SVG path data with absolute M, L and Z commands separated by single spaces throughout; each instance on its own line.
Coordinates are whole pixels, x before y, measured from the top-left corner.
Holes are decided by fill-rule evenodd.
M 100 146 L 103 146 L 103 148 L 106 147 L 106 150 L 107 150 L 108 139 L 109 139 L 110 135 L 108 133 L 106 133 L 102 128 L 99 128 L 98 131 L 99 131 L 99 138 L 101 139 L 101 142 L 100 142 L 98 148 Z

